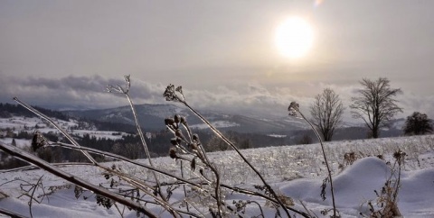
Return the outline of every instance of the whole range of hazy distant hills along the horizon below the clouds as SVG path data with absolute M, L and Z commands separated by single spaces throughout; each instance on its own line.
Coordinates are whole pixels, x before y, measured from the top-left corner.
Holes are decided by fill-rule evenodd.
M 99 131 L 137 132 L 129 106 L 61 112 L 42 107 L 35 108 L 50 117 L 65 121 L 73 118 L 77 121 L 90 123 Z M 137 104 L 136 110 L 140 125 L 145 132 L 165 131 L 165 118 L 173 117 L 175 114 L 186 117 L 187 122 L 196 132 L 209 132 L 207 126 L 192 112 L 176 104 Z M 200 111 L 200 113 L 222 132 L 238 132 L 243 134 L 244 137 L 252 137 L 254 134 L 262 135 L 263 139 L 255 140 L 256 142 L 260 141 L 261 145 L 297 144 L 304 136 L 309 136 L 314 142 L 316 141 L 315 134 L 310 130 L 307 123 L 294 117 L 261 118 L 258 115 L 229 114 L 217 111 Z M 12 114 L 28 117 L 35 116 L 21 105 L 0 104 L 0 117 L 7 118 Z M 393 121 L 389 128 L 382 128 L 380 137 L 401 136 L 403 123 L 405 123 L 404 119 Z M 343 127 L 336 130 L 333 140 L 366 139 L 367 134 L 367 128 L 361 123 L 344 123 Z

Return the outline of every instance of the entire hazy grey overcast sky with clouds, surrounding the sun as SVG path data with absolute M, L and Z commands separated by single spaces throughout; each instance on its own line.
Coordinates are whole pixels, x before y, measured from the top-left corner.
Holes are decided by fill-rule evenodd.
M 0 1 L 0 102 L 127 104 L 104 92 L 131 75 L 137 104 L 183 86 L 193 107 L 287 114 L 325 87 L 350 104 L 363 77 L 401 87 L 401 117 L 434 117 L 434 1 Z M 311 23 L 300 59 L 275 46 L 289 16 Z M 347 109 L 349 113 L 349 109 Z

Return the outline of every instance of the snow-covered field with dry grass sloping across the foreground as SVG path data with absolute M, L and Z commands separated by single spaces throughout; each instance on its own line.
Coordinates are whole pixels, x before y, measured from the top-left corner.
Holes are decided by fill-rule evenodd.
M 398 206 L 402 215 L 405 217 L 434 217 L 434 135 L 364 141 L 333 141 L 326 143 L 325 148 L 333 167 L 335 200 L 342 217 L 360 217 L 360 213 L 369 214 L 367 203 L 369 201 L 375 203 L 377 196 L 374 190 L 381 192 L 385 181 L 391 177 L 391 167 L 394 163 L 392 154 L 399 149 L 407 154 L 405 165 L 402 168 L 401 189 L 398 194 Z M 261 148 L 242 150 L 242 152 L 256 168 L 259 168 L 261 174 L 267 178 L 278 193 L 294 200 L 294 208 L 297 210 L 306 212 L 304 204 L 309 210 L 308 213 L 322 217 L 321 211 L 332 208 L 328 188 L 325 201 L 320 197 L 321 185 L 326 177 L 326 168 L 319 144 Z M 344 154 L 348 152 L 354 152 L 357 160 L 347 166 L 344 164 Z M 382 155 L 384 160 L 376 157 L 378 155 Z M 214 152 L 210 153 L 209 157 L 220 169 L 222 183 L 252 190 L 254 190 L 254 185 L 262 185 L 259 178 L 235 152 Z M 146 163 L 144 159 L 140 161 Z M 107 166 L 115 164 L 118 168 L 122 168 L 123 172 L 140 179 L 152 179 L 149 171 L 144 168 L 131 166 L 124 162 L 105 164 Z M 178 172 L 180 168 L 179 161 L 176 162 L 169 158 L 154 159 L 154 164 L 168 172 Z M 108 180 L 101 175 L 102 171 L 98 168 L 69 166 L 61 167 L 61 169 L 93 184 L 109 186 Z M 193 172 L 190 173 L 190 176 L 194 175 Z M 39 179 L 41 179 L 42 186 L 35 189 L 34 196 L 40 196 L 37 198 L 40 203 L 33 201 L 33 217 L 121 216 L 115 206 L 106 209 L 98 205 L 90 192 L 83 194 L 89 196 L 87 200 L 83 199 L 83 195 L 76 199 L 73 185 L 40 169 L 0 173 L 0 198 L 3 197 L 0 200 L 0 208 L 30 216 L 28 205 L 30 198 L 23 194 L 25 190 L 32 187 L 29 185 L 37 184 Z M 167 180 L 165 177 L 160 179 L 162 182 Z M 239 200 L 255 200 L 262 205 L 266 217 L 274 217 L 275 210 L 268 207 L 263 199 L 231 191 L 226 191 L 224 194 L 228 204 Z M 182 189 L 178 188 L 171 201 L 182 199 L 183 195 Z M 152 204 L 147 204 L 146 207 L 161 216 L 170 217 L 168 213 L 161 213 L 160 207 Z M 121 212 L 124 210 L 120 204 L 118 204 L 118 209 Z M 258 206 L 249 204 L 243 215 L 252 217 L 259 214 Z M 124 217 L 136 217 L 136 213 L 127 209 L 123 215 Z M 297 215 L 297 217 L 300 216 Z

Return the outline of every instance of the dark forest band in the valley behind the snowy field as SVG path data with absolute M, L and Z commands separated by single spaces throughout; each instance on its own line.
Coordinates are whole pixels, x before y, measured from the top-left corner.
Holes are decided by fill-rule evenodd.
M 209 131 L 193 131 L 199 136 L 200 141 L 203 143 L 207 151 L 215 150 L 228 150 L 229 147 L 225 146 L 220 139 L 216 138 L 212 132 Z M 170 140 L 174 138 L 172 132 L 162 130 L 160 132 L 144 132 L 146 137 L 146 144 L 151 153 L 151 157 L 163 157 L 168 155 L 168 151 L 172 146 Z M 150 134 L 149 134 L 150 133 Z M 267 135 L 254 134 L 254 133 L 239 133 L 239 132 L 224 132 L 228 138 L 233 141 L 237 147 L 240 149 L 249 148 L 259 148 L 264 146 L 280 146 L 285 144 L 285 138 L 270 137 Z M 66 141 L 62 136 L 53 133 L 42 133 L 42 135 L 49 141 L 61 141 L 65 143 L 71 143 Z M 76 140 L 80 146 L 89 147 L 96 150 L 108 151 L 122 155 L 129 159 L 144 159 L 146 158 L 143 145 L 141 144 L 138 134 L 123 134 L 118 139 L 108 139 L 108 138 L 97 138 L 95 136 L 90 136 L 90 134 L 84 134 L 79 136 L 77 134 L 71 133 L 71 136 Z M 33 138 L 33 133 L 29 132 L 19 132 L 14 135 L 14 139 L 24 139 L 31 141 Z M 30 143 L 30 142 L 29 142 Z M 29 152 L 38 157 L 48 161 L 48 162 L 87 162 L 88 159 L 78 150 L 69 150 L 61 148 L 61 146 L 49 146 L 42 147 L 39 150 L 33 151 L 27 148 Z M 7 155 L 2 153 L 2 159 L 6 158 Z M 107 161 L 111 159 L 106 159 L 105 157 L 100 157 L 99 155 L 92 154 L 92 156 L 98 161 Z M 20 161 L 14 159 L 14 161 L 8 161 L 7 164 L 3 163 L 0 168 L 13 168 L 17 165 L 25 165 Z

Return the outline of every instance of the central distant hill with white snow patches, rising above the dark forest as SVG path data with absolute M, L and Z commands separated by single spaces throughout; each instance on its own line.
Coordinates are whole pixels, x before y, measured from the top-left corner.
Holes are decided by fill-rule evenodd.
M 205 129 L 206 126 L 188 109 L 174 104 L 138 104 L 136 105 L 139 123 L 143 129 L 163 130 L 164 119 L 180 114 L 194 129 Z M 134 117 L 129 106 L 111 109 L 67 111 L 73 117 L 91 118 L 102 122 L 134 124 Z M 225 114 L 220 112 L 201 112 L 203 116 L 217 128 L 233 132 L 288 132 L 307 128 L 307 124 L 293 117 L 278 119 L 259 119 L 244 114 Z

